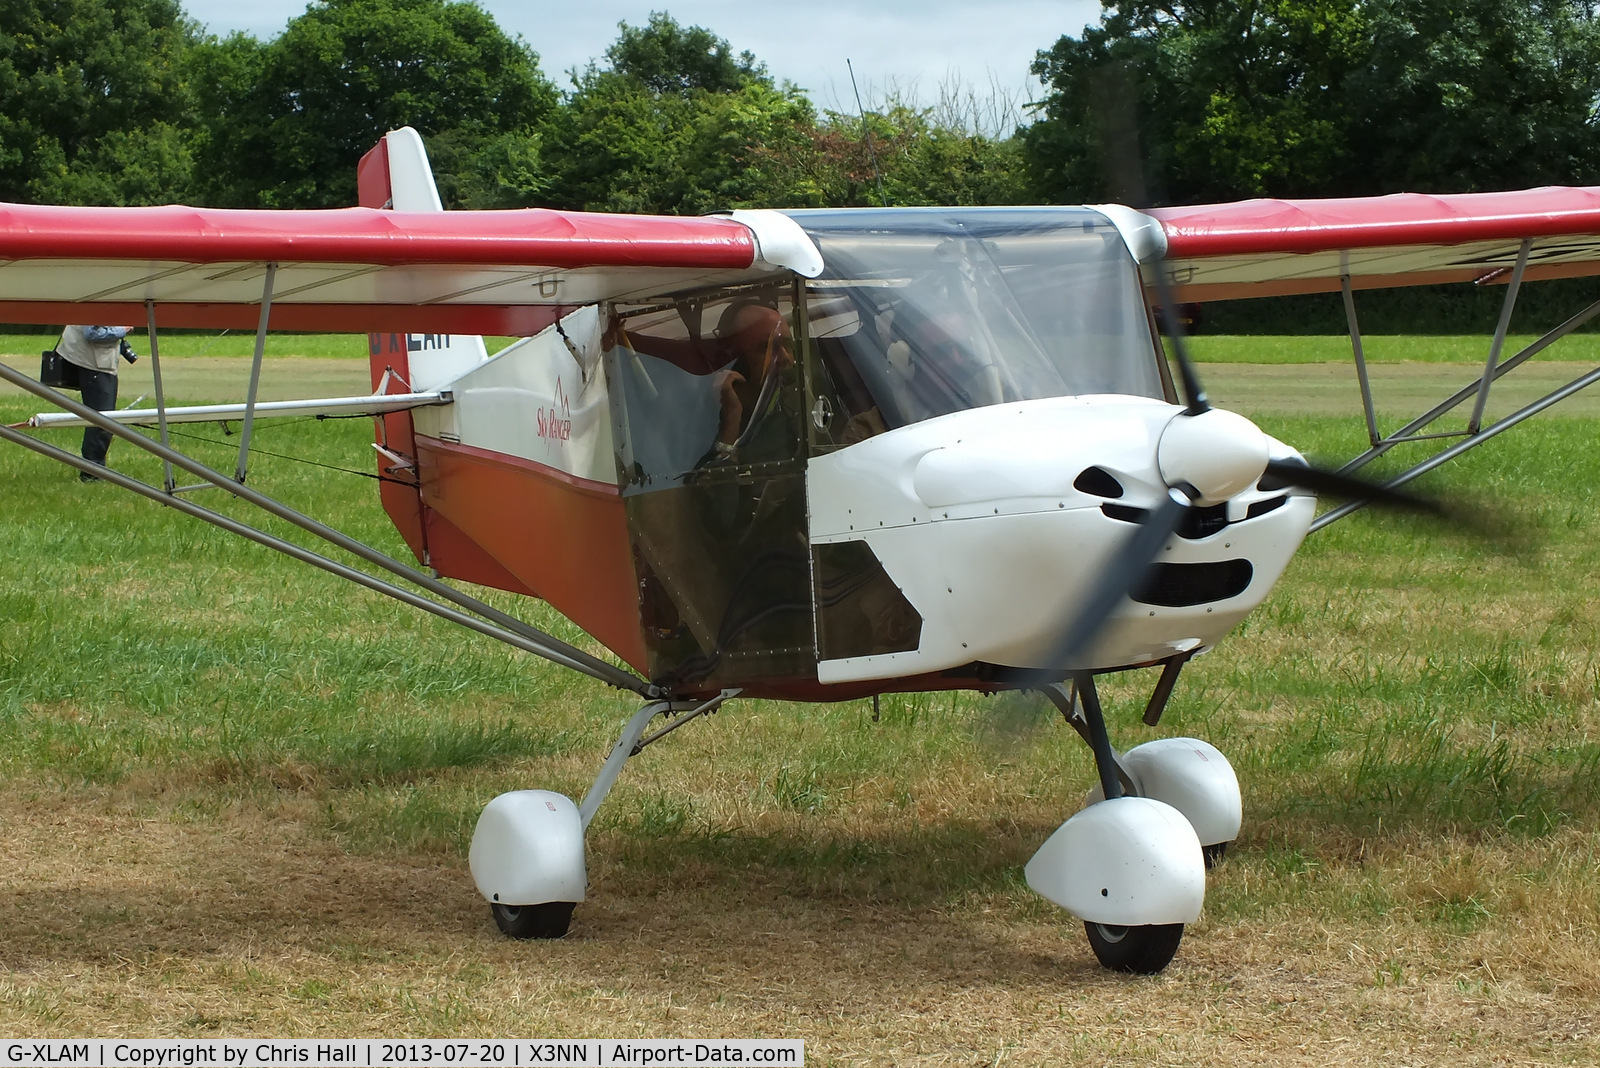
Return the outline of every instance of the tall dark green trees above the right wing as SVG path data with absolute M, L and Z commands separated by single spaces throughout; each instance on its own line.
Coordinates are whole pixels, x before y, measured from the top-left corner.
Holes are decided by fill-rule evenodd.
M 1126 195 L 1134 157 L 1158 201 L 1594 181 L 1600 161 L 1581 0 L 1107 3 L 1034 72 L 1024 153 L 1056 200 Z

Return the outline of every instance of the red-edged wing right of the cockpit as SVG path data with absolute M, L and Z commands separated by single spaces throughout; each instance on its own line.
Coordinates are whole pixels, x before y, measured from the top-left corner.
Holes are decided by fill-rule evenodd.
M 1531 238 L 1525 278 L 1600 273 L 1600 189 L 1430 197 L 1245 200 L 1158 208 L 1176 296 L 1224 301 L 1445 281 L 1506 281 Z

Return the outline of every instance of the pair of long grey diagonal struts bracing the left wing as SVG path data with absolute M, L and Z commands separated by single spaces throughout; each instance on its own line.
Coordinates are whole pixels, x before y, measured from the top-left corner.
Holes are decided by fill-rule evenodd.
M 658 697 L 661 697 L 661 689 L 658 686 L 638 678 L 637 675 L 624 671 L 622 668 L 613 664 L 606 664 L 605 660 L 590 656 L 582 649 L 578 649 L 576 646 L 570 646 L 560 638 L 547 635 L 536 627 L 530 627 L 515 616 L 509 616 L 494 608 L 493 604 L 486 604 L 477 600 L 475 596 L 462 593 L 461 590 L 456 590 L 454 587 L 446 585 L 438 579 L 434 579 L 432 576 L 422 574 L 414 568 L 408 568 L 406 564 L 378 552 L 376 548 L 363 542 L 358 542 L 354 537 L 341 534 L 339 531 L 323 523 L 318 523 L 317 520 L 312 520 L 310 516 L 302 515 L 294 508 L 290 508 L 288 505 L 274 500 L 272 497 L 256 489 L 245 486 L 243 483 L 234 481 L 227 475 L 214 472 L 205 464 L 200 464 L 198 460 L 173 448 L 163 446 L 158 441 L 152 441 L 142 433 L 138 433 L 136 430 L 131 430 L 112 419 L 104 417 L 93 408 L 86 408 L 85 404 L 80 404 L 70 397 L 66 397 L 58 390 L 53 390 L 48 385 L 43 385 L 42 382 L 30 379 L 21 371 L 16 371 L 3 363 L 0 363 L 0 379 L 10 382 L 11 385 L 16 385 L 18 389 L 27 390 L 29 393 L 34 393 L 35 397 L 46 400 L 51 404 L 56 404 L 58 408 L 70 411 L 72 414 L 99 427 L 101 430 L 106 430 L 114 436 L 128 441 L 134 448 L 144 449 L 146 452 L 150 452 L 162 460 L 171 462 L 174 467 L 179 467 L 189 472 L 190 475 L 203 478 L 213 486 L 226 489 L 235 497 L 240 497 L 242 500 L 256 505 L 262 512 L 275 515 L 280 520 L 285 520 L 286 523 L 293 523 L 302 531 L 315 534 L 317 537 L 333 545 L 338 545 L 339 548 L 355 556 L 360 556 L 362 560 L 376 564 L 405 579 L 406 582 L 419 585 L 429 593 L 434 593 L 435 596 L 451 601 L 453 604 L 466 611 L 462 612 L 448 608 L 445 604 L 438 604 L 437 601 L 432 601 L 426 596 L 419 596 L 416 593 L 411 593 L 410 590 L 400 588 L 397 585 L 368 576 L 363 571 L 349 568 L 334 560 L 328 560 L 326 556 L 320 556 L 307 548 L 301 548 L 293 542 L 282 540 L 278 537 L 258 531 L 245 523 L 224 516 L 218 512 L 211 512 L 210 508 L 197 505 L 190 500 L 184 500 L 182 497 L 173 492 L 163 492 L 162 489 L 149 486 L 136 478 L 130 478 L 128 475 L 123 475 L 120 472 L 114 472 L 110 468 L 99 467 L 98 464 L 91 464 L 90 460 L 74 456 L 72 452 L 66 452 L 64 449 L 58 449 L 53 444 L 38 441 L 37 438 L 21 433 L 13 427 L 0 427 L 0 440 L 3 441 L 21 444 L 26 449 L 32 449 L 34 452 L 38 452 L 42 456 L 61 460 L 69 467 L 75 467 L 78 470 L 88 470 L 91 475 L 98 475 L 106 481 L 122 486 L 123 489 L 130 489 L 142 497 L 149 497 L 150 500 L 158 500 L 160 504 L 165 504 L 171 508 L 178 508 L 179 512 L 184 512 L 187 515 L 194 515 L 195 518 L 205 520 L 206 523 L 221 526 L 222 529 L 246 537 L 253 542 L 258 542 L 269 548 L 275 548 L 277 552 L 293 556 L 294 560 L 309 563 L 315 568 L 322 568 L 323 571 L 336 574 L 342 579 L 349 579 L 350 582 L 363 585 L 370 590 L 376 590 L 379 593 L 384 593 L 386 596 L 392 596 L 398 601 L 411 604 L 413 608 L 421 608 L 426 612 L 432 612 L 454 624 L 461 624 L 469 630 L 488 635 L 490 638 L 504 641 L 506 644 L 522 649 L 525 652 L 533 652 L 534 656 L 544 657 L 546 660 L 550 660 L 562 667 L 568 667 L 574 671 L 581 671 L 582 675 L 589 675 L 590 678 L 600 679 L 602 683 L 606 683 L 610 686 L 616 686 L 618 689 L 632 691 L 640 697 L 645 697 L 646 700 L 656 700 Z

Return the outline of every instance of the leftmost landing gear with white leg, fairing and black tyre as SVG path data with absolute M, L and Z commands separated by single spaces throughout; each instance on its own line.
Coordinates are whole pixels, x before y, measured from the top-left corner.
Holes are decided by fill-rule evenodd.
M 483 806 L 467 863 L 478 892 L 490 902 L 494 926 L 512 938 L 565 935 L 589 884 L 584 831 L 622 766 L 646 745 L 717 711 L 738 694 L 725 689 L 706 702 L 653 700 L 635 711 L 581 806 L 552 790 L 514 790 Z M 646 735 L 656 716 L 672 719 Z

